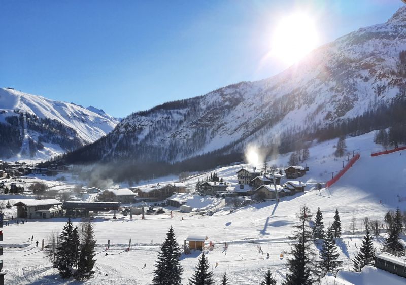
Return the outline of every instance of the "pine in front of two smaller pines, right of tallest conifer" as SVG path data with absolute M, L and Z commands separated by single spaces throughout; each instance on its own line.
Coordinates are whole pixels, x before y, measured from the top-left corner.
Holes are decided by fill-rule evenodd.
M 340 254 L 337 251 L 337 245 L 334 240 L 334 233 L 329 227 L 324 238 L 323 246 L 320 253 L 321 261 L 319 269 L 325 269 L 327 272 L 334 273 L 339 270 L 342 262 L 337 261 Z

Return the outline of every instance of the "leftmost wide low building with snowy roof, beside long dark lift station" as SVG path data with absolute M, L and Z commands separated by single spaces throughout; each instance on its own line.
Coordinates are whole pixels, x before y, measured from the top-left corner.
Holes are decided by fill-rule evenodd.
M 17 206 L 18 218 L 52 218 L 63 213 L 61 202 L 55 199 L 23 199 L 13 206 Z

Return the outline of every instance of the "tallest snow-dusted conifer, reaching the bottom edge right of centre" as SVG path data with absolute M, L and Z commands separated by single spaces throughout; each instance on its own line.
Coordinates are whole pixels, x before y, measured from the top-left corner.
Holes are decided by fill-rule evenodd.
M 286 274 L 284 285 L 310 285 L 314 282 L 312 271 L 315 269 L 310 260 L 310 257 L 313 259 L 315 256 L 310 247 L 313 235 L 310 227 L 306 225 L 306 222 L 312 219 L 310 209 L 303 205 L 297 217 L 300 224 L 294 226 L 294 236 L 290 238 L 298 240 L 298 242 L 292 244 L 291 254 L 293 257 L 288 259 L 290 272 Z

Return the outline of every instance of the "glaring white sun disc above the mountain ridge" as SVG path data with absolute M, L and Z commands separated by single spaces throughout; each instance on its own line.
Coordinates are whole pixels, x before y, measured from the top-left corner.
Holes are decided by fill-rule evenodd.
M 283 18 L 277 26 L 272 53 L 287 64 L 300 60 L 318 45 L 316 26 L 313 20 L 302 13 Z

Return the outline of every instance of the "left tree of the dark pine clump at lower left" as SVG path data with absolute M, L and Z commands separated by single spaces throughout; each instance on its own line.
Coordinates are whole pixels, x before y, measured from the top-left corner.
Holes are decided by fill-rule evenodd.
M 59 274 L 62 278 L 69 278 L 73 274 L 73 265 L 77 260 L 79 236 L 77 227 L 73 228 L 71 219 L 68 219 L 59 235 L 59 249 L 55 254 L 58 261 Z

